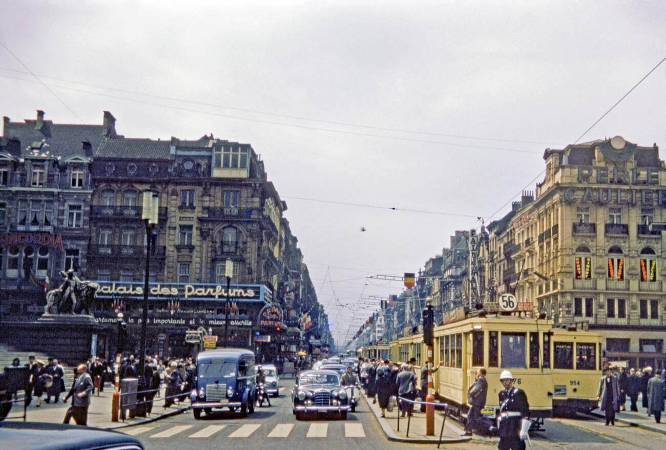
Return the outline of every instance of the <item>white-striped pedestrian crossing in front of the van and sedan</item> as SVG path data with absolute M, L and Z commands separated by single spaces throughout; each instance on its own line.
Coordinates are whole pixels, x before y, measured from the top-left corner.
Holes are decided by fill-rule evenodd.
M 330 426 L 329 426 L 330 425 Z M 266 437 L 286 438 L 325 438 L 350 437 L 363 438 L 366 433 L 362 423 L 344 423 L 342 421 L 312 423 L 243 423 L 242 425 L 143 425 L 124 429 L 123 433 L 132 436 L 148 437 L 149 439 L 165 439 L 172 437 L 210 438 L 248 438 Z

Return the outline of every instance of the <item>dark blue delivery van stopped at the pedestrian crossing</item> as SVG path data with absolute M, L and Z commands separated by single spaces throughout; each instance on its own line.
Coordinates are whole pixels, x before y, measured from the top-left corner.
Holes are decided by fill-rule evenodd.
M 196 355 L 196 387 L 190 393 L 194 419 L 213 409 L 228 408 L 245 417 L 254 413 L 254 353 L 246 349 L 215 349 Z

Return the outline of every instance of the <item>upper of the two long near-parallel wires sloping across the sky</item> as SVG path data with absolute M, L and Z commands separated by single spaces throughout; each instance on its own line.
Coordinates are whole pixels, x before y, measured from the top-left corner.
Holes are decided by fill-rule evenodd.
M 11 72 L 15 72 L 15 73 L 26 73 L 26 72 L 18 71 L 18 70 L 15 70 L 15 69 L 9 69 L 7 67 L 0 67 L 0 70 L 11 71 Z M 253 113 L 253 114 L 270 115 L 270 116 L 274 116 L 274 117 L 283 117 L 284 119 L 296 119 L 296 120 L 304 120 L 304 121 L 310 121 L 310 122 L 328 123 L 330 125 L 342 125 L 344 127 L 366 128 L 366 129 L 374 129 L 374 130 L 378 130 L 378 131 L 394 131 L 396 133 L 410 133 L 410 134 L 441 136 L 441 137 L 456 137 L 458 139 L 476 139 L 476 140 L 479 140 L 479 141 L 496 141 L 496 142 L 510 142 L 510 143 L 521 143 L 521 144 L 544 144 L 544 145 L 554 144 L 552 142 L 520 141 L 520 140 L 516 140 L 516 139 L 501 139 L 501 138 L 493 138 L 493 137 L 454 135 L 454 134 L 448 134 L 448 133 L 435 133 L 435 132 L 432 132 L 432 131 L 416 131 L 416 130 L 410 130 L 410 129 L 377 127 L 375 125 L 361 125 L 361 124 L 358 124 L 358 123 L 340 122 L 340 121 L 332 121 L 332 120 L 326 120 L 326 119 L 314 119 L 312 117 L 302 117 L 302 116 L 297 116 L 297 115 L 268 113 L 266 111 L 258 111 L 256 109 L 247 109 L 247 108 L 232 107 L 232 106 L 227 106 L 227 105 L 218 105 L 216 103 L 205 103 L 205 102 L 202 102 L 202 101 L 180 99 L 180 98 L 177 98 L 177 97 L 167 97 L 165 95 L 156 95 L 156 94 L 150 94 L 150 93 L 145 93 L 145 92 L 140 92 L 140 91 L 131 91 L 129 89 L 119 89 L 117 87 L 95 85 L 95 84 L 92 84 L 92 83 L 84 83 L 82 81 L 73 81 L 73 80 L 68 80 L 68 79 L 64 79 L 64 78 L 51 77 L 49 75 L 39 75 L 39 76 L 43 77 L 43 78 L 57 80 L 57 81 L 65 81 L 65 83 L 72 83 L 72 84 L 77 84 L 77 85 L 82 85 L 82 86 L 96 87 L 97 89 L 107 89 L 109 91 L 124 92 L 124 93 L 128 93 L 128 94 L 133 94 L 133 95 L 143 95 L 145 97 L 153 97 L 155 99 L 163 99 L 163 100 L 168 100 L 168 101 L 179 101 L 181 103 L 190 103 L 191 105 L 200 105 L 200 106 L 215 107 L 215 108 L 222 108 L 222 109 L 231 109 L 232 111 L 240 111 L 240 112 L 243 112 L 243 113 Z M 555 144 L 555 145 L 561 145 L 561 144 Z

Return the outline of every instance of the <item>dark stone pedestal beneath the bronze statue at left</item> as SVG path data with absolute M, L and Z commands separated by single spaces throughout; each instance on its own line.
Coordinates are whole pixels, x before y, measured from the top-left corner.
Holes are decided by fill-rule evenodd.
M 87 361 L 106 334 L 91 315 L 44 314 L 35 321 L 0 323 L 0 342 L 19 351 L 45 353 L 67 365 Z

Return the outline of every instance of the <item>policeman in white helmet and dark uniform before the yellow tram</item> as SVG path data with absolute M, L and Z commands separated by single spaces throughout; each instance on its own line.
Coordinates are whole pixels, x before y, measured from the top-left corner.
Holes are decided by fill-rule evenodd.
M 529 403 L 522 389 L 513 387 L 513 375 L 505 370 L 500 374 L 504 389 L 500 391 L 499 450 L 525 450 L 525 439 L 529 429 Z M 524 421 L 524 422 L 523 422 Z

